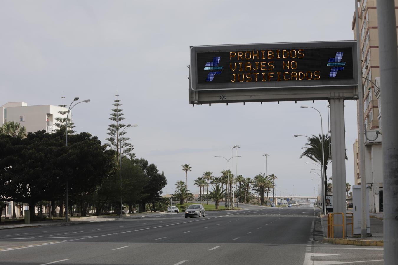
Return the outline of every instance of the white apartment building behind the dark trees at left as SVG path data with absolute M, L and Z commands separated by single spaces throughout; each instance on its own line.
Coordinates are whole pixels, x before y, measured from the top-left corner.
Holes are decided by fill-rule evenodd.
M 64 108 L 64 110 L 68 110 Z M 19 122 L 26 132 L 46 130 L 51 133 L 57 122 L 56 118 L 62 118 L 60 106 L 36 105 L 28 106 L 25 102 L 9 102 L 0 107 L 0 126 L 6 122 Z

